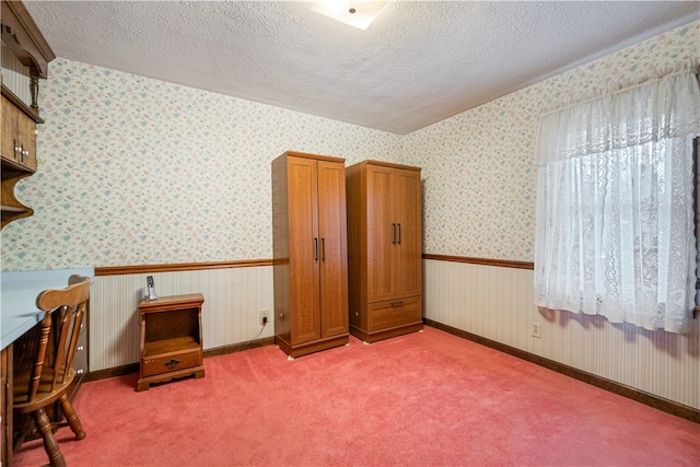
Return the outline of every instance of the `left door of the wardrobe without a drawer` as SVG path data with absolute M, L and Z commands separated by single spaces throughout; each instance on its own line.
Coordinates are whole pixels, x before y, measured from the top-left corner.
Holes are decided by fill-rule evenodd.
M 291 343 L 320 338 L 316 161 L 288 157 Z

